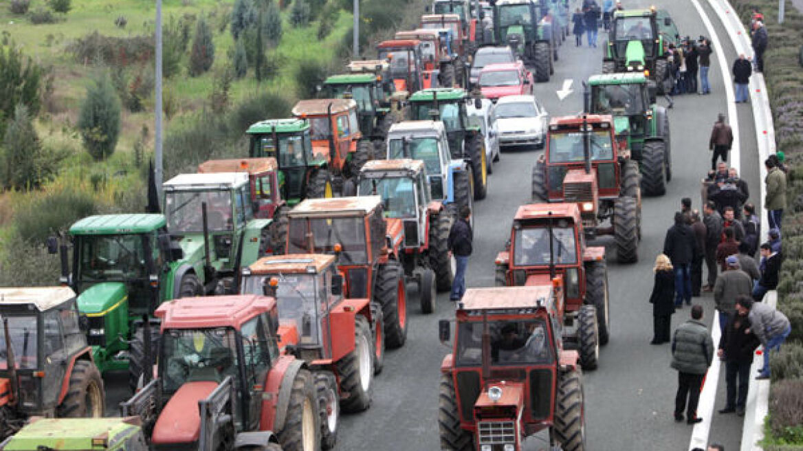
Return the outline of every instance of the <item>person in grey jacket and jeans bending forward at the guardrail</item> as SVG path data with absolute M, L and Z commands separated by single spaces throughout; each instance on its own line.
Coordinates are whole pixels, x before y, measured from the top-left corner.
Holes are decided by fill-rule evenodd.
M 736 311 L 740 315 L 748 315 L 750 330 L 756 334 L 764 348 L 764 368 L 759 370 L 760 374 L 756 379 L 769 379 L 769 351 L 781 349 L 781 344 L 792 333 L 792 324 L 786 315 L 766 303 L 753 302 L 750 296 L 736 299 Z

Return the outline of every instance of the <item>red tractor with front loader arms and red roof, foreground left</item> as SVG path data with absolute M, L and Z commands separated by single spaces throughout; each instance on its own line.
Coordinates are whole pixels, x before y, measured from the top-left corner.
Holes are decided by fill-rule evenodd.
M 141 416 L 150 449 L 320 448 L 315 377 L 287 352 L 296 331 L 279 330 L 275 299 L 177 299 L 156 316 L 156 378 L 120 405 L 123 416 Z

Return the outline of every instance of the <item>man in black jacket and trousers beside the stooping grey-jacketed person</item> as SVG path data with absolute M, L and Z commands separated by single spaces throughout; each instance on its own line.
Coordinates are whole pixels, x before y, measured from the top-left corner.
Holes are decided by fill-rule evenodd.
M 728 316 L 728 327 L 725 327 L 719 338 L 719 349 L 716 351 L 717 356 L 725 360 L 727 384 L 725 407 L 720 409 L 719 413 L 736 412 L 737 415 L 744 416 L 744 404 L 747 404 L 750 384 L 750 365 L 753 361 L 753 351 L 756 351 L 759 344 L 758 338 L 750 330 L 750 320 L 747 315 L 734 310 Z

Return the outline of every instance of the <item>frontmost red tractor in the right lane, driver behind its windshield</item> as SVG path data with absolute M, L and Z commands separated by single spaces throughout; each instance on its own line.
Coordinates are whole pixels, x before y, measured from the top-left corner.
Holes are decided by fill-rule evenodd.
M 549 429 L 550 449 L 585 451 L 577 351 L 563 348 L 560 276 L 537 286 L 471 288 L 457 303 L 441 364 L 440 449 L 520 451 Z M 442 343 L 450 321 L 438 323 Z

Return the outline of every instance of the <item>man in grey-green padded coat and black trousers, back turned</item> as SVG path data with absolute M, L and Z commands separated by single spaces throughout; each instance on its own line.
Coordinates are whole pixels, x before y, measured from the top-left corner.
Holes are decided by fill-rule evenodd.
M 684 408 L 687 424 L 695 425 L 703 421 L 697 417 L 697 403 L 703 377 L 713 358 L 714 343 L 703 323 L 703 306 L 696 305 L 691 307 L 691 319 L 675 329 L 672 338 L 672 368 L 678 370 L 675 421 L 683 421 Z

